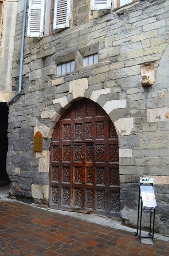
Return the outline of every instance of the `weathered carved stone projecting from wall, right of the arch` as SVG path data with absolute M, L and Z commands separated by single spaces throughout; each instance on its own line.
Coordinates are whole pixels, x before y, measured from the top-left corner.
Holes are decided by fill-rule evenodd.
M 152 63 L 143 64 L 141 67 L 141 84 L 143 86 L 155 84 L 155 66 Z

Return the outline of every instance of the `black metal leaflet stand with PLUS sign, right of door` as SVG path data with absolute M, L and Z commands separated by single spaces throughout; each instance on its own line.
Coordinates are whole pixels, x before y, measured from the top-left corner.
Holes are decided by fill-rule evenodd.
M 149 238 L 154 241 L 154 228 L 155 228 L 155 207 L 157 206 L 155 200 L 154 192 L 154 178 L 140 178 L 139 185 L 139 199 L 138 199 L 138 215 L 137 215 L 137 232 L 135 236 L 138 237 L 140 243 L 141 238 Z M 141 200 L 141 207 L 140 207 Z M 148 236 L 141 236 L 141 222 L 142 222 L 142 212 L 150 212 L 150 223 L 149 223 L 149 233 Z M 153 223 L 152 223 L 153 215 Z M 139 229 L 139 216 L 140 216 L 140 229 Z

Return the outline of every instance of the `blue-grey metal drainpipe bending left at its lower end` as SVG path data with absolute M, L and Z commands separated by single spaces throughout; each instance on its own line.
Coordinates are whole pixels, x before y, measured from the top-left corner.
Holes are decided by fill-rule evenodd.
M 9 107 L 9 104 L 13 102 L 18 95 L 20 95 L 22 90 L 23 49 L 24 49 L 24 41 L 25 41 L 26 11 L 27 11 L 27 0 L 25 0 L 24 12 L 23 12 L 22 41 L 21 41 L 21 51 L 20 51 L 19 88 L 17 93 L 6 103 L 8 107 Z

